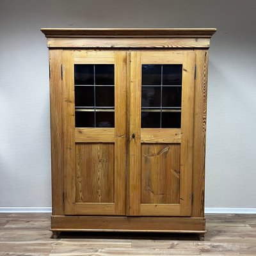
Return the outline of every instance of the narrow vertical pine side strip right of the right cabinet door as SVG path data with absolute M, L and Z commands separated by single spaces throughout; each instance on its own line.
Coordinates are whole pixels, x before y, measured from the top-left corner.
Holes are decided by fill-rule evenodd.
M 195 50 L 195 56 L 196 80 L 193 143 L 193 205 L 191 216 L 204 217 L 208 50 Z

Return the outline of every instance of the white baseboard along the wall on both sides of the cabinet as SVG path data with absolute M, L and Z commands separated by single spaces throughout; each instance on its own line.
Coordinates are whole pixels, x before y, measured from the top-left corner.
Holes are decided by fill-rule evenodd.
M 51 207 L 0 207 L 0 213 L 45 212 Z M 205 213 L 256 214 L 256 208 L 205 208 Z

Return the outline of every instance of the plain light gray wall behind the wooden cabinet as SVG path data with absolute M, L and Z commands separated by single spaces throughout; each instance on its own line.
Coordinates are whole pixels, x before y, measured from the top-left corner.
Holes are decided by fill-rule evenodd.
M 0 207 L 51 206 L 48 52 L 40 28 L 218 28 L 211 41 L 206 207 L 256 207 L 254 0 L 0 3 Z

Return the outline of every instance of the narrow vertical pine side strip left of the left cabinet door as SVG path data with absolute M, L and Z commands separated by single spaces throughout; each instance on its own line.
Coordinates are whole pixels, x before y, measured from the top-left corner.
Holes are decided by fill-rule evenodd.
M 51 104 L 52 215 L 64 215 L 62 50 L 49 50 Z

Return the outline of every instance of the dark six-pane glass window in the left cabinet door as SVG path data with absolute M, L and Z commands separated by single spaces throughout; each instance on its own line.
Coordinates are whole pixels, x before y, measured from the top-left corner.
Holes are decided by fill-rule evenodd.
M 74 70 L 76 127 L 115 127 L 114 65 L 76 64 Z

